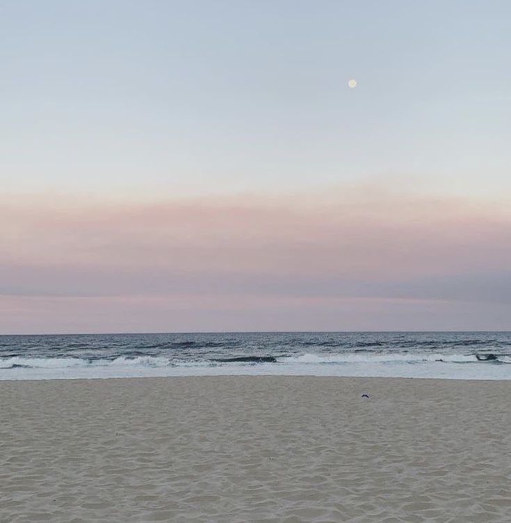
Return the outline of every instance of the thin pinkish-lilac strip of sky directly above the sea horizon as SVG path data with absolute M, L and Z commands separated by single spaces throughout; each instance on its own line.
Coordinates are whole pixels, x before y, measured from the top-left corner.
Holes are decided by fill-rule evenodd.
M 0 297 L 0 332 L 503 330 L 511 306 L 377 298 Z

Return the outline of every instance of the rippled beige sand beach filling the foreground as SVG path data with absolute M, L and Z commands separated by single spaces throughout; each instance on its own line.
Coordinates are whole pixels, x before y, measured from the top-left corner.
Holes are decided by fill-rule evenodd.
M 0 521 L 507 523 L 510 400 L 511 382 L 0 382 Z

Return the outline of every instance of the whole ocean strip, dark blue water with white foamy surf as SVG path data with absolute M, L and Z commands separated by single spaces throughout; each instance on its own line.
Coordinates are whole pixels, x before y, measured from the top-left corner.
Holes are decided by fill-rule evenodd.
M 0 380 L 190 375 L 510 380 L 511 332 L 0 336 Z

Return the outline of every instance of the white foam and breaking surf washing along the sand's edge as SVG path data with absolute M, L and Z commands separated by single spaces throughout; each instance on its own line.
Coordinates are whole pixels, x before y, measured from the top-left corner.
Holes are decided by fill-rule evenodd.
M 193 361 L 166 357 L 76 357 L 0 359 L 0 380 L 44 380 L 190 375 L 323 375 L 434 377 L 511 380 L 511 357 L 504 364 L 479 362 L 472 354 L 358 353 L 301 354 L 277 357 L 276 363 Z

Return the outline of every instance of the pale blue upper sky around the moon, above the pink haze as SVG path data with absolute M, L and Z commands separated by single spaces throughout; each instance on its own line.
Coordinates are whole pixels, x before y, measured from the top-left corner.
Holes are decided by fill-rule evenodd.
M 510 19 L 508 1 L 1 0 L 0 181 L 498 194 Z

